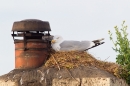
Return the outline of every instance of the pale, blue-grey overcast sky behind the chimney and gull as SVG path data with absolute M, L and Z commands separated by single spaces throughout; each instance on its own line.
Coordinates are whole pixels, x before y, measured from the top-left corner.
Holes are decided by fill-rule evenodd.
M 89 50 L 97 59 L 115 62 L 108 30 L 130 25 L 130 0 L 0 0 L 0 75 L 14 69 L 15 52 L 11 37 L 13 22 L 23 19 L 49 21 L 51 35 L 65 40 L 105 38 L 105 44 Z M 129 32 L 130 30 L 128 30 Z

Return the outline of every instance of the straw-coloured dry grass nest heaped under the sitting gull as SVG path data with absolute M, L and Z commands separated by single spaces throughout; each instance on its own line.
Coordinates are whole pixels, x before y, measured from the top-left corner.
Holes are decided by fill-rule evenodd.
M 119 65 L 112 62 L 100 61 L 87 52 L 51 52 L 49 59 L 45 63 L 46 67 L 75 68 L 78 66 L 95 66 L 102 70 L 119 76 Z

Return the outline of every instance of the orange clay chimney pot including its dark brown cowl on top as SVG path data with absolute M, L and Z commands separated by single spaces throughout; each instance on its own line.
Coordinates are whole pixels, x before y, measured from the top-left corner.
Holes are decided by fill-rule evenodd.
M 49 55 L 51 45 L 49 40 L 42 39 L 50 36 L 49 22 L 37 19 L 16 21 L 12 31 L 15 68 L 30 69 L 42 66 Z

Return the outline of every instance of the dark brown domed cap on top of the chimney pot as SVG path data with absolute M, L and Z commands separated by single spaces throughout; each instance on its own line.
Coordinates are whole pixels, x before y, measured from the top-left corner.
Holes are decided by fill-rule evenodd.
M 48 21 L 25 19 L 13 23 L 12 31 L 51 31 Z

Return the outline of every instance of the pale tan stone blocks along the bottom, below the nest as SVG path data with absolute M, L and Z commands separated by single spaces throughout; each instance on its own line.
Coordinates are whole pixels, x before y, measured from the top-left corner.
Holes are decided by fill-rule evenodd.
M 52 86 L 128 86 L 121 79 L 114 78 L 79 78 L 53 79 Z

